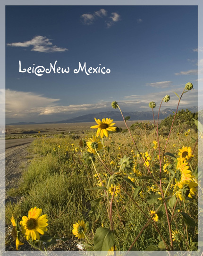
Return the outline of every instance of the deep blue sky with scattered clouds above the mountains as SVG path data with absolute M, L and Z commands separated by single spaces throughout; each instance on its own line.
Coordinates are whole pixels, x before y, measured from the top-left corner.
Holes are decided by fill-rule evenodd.
M 179 107 L 197 106 L 197 18 L 197 6 L 6 6 L 6 123 L 111 111 L 114 100 L 149 111 L 166 94 L 162 109 L 175 108 L 187 82 Z M 69 72 L 32 73 L 50 63 Z

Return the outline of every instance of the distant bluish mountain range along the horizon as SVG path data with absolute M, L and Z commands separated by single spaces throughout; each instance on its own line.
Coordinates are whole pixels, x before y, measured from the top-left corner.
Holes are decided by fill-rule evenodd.
M 197 107 L 188 107 L 188 110 L 195 113 L 197 112 Z M 160 111 L 159 119 L 164 119 L 169 115 L 173 115 L 173 112 L 176 111 L 175 109 L 171 108 L 165 108 L 164 110 Z M 134 112 L 123 112 L 124 117 L 130 116 L 130 120 L 152 120 L 152 110 L 151 111 L 134 111 Z M 154 116 L 157 118 L 158 111 L 154 111 Z M 107 112 L 99 112 L 96 114 L 87 114 L 87 115 L 81 115 L 77 116 L 75 118 L 67 119 L 67 120 L 61 120 L 56 122 L 46 122 L 46 123 L 34 123 L 34 122 L 19 122 L 19 123 L 12 123 L 7 125 L 21 125 L 21 124 L 64 124 L 64 123 L 86 123 L 86 122 L 94 122 L 94 117 L 97 119 L 103 119 L 103 118 L 110 118 L 114 121 L 122 121 L 122 116 L 119 111 L 107 111 Z

